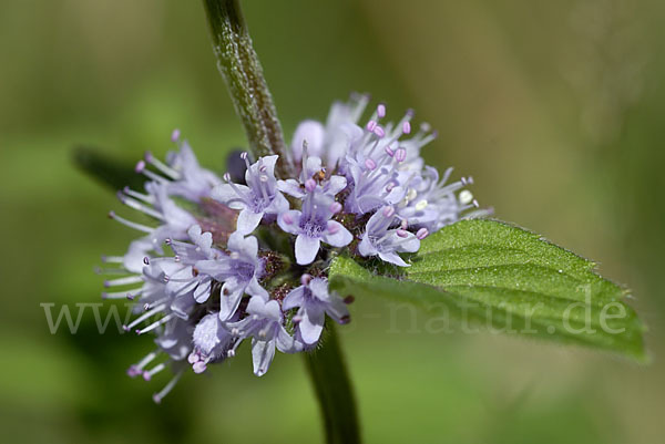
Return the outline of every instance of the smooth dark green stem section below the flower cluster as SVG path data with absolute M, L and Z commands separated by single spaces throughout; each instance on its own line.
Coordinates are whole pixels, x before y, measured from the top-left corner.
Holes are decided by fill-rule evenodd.
M 328 444 L 360 443 L 360 426 L 354 389 L 346 371 L 335 326 L 327 322 L 323 347 L 305 353 L 305 363 L 316 391 Z

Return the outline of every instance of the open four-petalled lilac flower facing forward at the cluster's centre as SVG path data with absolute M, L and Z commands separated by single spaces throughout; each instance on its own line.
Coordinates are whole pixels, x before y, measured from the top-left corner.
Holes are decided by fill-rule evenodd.
M 303 200 L 303 210 L 291 209 L 277 218 L 279 227 L 296 235 L 296 261 L 308 265 L 314 261 L 321 241 L 332 247 L 344 247 L 354 240 L 354 236 L 340 223 L 331 217 L 340 210 L 339 203 L 332 197 L 317 193 L 316 183 L 308 179 L 307 196 Z

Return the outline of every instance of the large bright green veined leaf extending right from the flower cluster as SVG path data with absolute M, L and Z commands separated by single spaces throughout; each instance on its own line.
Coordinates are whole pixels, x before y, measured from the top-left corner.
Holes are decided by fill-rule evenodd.
M 397 278 L 348 257 L 330 266 L 331 288 L 382 296 L 431 316 L 523 337 L 582 344 L 646 360 L 644 326 L 627 292 L 595 264 L 495 220 L 462 220 L 424 239 Z

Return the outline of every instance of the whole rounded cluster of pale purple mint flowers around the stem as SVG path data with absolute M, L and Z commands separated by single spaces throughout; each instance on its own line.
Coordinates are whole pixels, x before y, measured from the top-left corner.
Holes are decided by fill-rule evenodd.
M 144 189 L 119 198 L 152 223 L 110 213 L 142 236 L 124 256 L 103 258 L 119 276 L 102 296 L 135 301 L 125 330 L 155 335 L 155 350 L 127 373 L 147 381 L 172 368 L 155 402 L 186 369 L 203 373 L 245 340 L 260 376 L 275 350 L 316 348 L 327 318 L 349 322 L 352 297 L 328 287 L 334 255 L 409 267 L 405 254 L 422 239 L 483 213 L 463 189 L 471 178 L 449 183 L 451 168 L 440 177 L 424 165 L 420 151 L 437 136 L 428 125 L 413 131 L 410 111 L 385 122 L 383 104 L 361 125 L 368 102 L 335 103 L 325 124 L 297 127 L 289 158 L 242 153 L 222 178 L 200 166 L 178 131 L 166 162 L 150 153 L 139 162 Z M 277 162 L 294 177 L 276 177 Z

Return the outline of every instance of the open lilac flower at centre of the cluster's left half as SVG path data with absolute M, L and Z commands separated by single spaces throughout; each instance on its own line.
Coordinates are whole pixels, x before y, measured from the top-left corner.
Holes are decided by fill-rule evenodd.
M 264 260 L 258 257 L 258 241 L 254 236 L 244 237 L 236 231 L 228 238 L 227 256 L 200 260 L 194 266 L 198 272 L 224 282 L 219 319 L 225 321 L 236 312 L 243 295 L 268 300 L 268 292 L 258 283 L 265 271 Z

